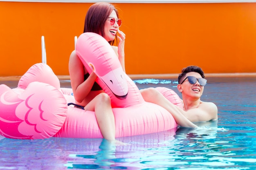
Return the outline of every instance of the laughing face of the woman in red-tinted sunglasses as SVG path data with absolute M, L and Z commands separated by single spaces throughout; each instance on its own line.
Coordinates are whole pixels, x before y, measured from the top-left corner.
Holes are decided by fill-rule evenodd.
M 117 18 L 117 13 L 113 10 L 108 19 L 110 18 Z M 115 35 L 117 34 L 117 30 L 119 29 L 119 26 L 117 22 L 115 22 L 114 25 L 111 25 L 109 20 L 106 20 L 105 25 L 104 25 L 104 38 L 109 42 L 115 40 Z

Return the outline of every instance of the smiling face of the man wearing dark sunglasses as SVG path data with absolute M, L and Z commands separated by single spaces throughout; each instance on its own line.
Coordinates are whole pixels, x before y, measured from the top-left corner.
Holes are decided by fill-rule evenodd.
M 199 73 L 189 72 L 189 73 L 186 73 L 186 76 L 184 76 L 183 80 L 187 76 L 193 76 L 195 78 L 202 78 L 202 76 Z M 196 81 L 195 84 L 190 84 L 189 80 L 186 79 L 182 84 L 178 84 L 177 88 L 182 93 L 182 96 L 187 95 L 190 97 L 197 97 L 197 98 L 200 98 L 204 91 L 204 86 L 200 86 L 198 80 Z

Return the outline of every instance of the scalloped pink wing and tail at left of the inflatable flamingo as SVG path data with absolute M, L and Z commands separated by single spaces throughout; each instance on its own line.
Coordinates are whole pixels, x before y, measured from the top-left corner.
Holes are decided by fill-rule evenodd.
M 38 69 L 39 66 L 39 69 Z M 33 67 L 37 74 L 45 75 L 38 64 Z M 0 85 L 0 135 L 13 139 L 45 139 L 58 132 L 67 115 L 67 101 L 54 86 L 41 81 L 55 77 L 33 74 L 31 69 L 21 77 L 18 88 Z M 47 74 L 54 75 L 54 74 Z M 27 79 L 27 76 L 29 79 Z M 57 78 L 57 77 L 56 77 Z M 58 79 L 58 78 L 57 78 Z M 27 82 L 30 80 L 31 82 Z M 25 86 L 24 86 L 25 85 Z

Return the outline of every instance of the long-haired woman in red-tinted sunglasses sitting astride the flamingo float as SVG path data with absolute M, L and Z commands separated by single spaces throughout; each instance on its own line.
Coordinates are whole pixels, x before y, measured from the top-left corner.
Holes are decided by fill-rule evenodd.
M 125 69 L 125 34 L 119 30 L 119 26 L 121 26 L 121 20 L 118 19 L 117 9 L 110 3 L 100 2 L 93 4 L 88 9 L 84 32 L 98 33 L 111 45 L 118 38 L 118 46 L 112 46 L 112 48 L 119 57 L 123 69 Z M 115 117 L 112 112 L 110 97 L 95 82 L 97 75 L 94 72 L 89 75 L 75 51 L 70 55 L 69 73 L 76 104 L 84 106 L 85 110 L 95 111 L 103 137 L 107 140 L 115 140 Z

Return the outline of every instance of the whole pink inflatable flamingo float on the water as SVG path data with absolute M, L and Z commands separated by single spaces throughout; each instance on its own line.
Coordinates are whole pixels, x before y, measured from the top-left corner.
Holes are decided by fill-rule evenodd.
M 100 35 L 80 35 L 76 54 L 89 73 L 96 73 L 97 83 L 110 96 L 116 137 L 177 127 L 166 109 L 144 101 L 136 84 L 122 70 L 112 47 Z M 157 89 L 182 108 L 182 101 L 174 91 Z M 47 64 L 34 64 L 20 78 L 17 88 L 0 85 L 0 135 L 12 139 L 103 138 L 95 113 L 67 106 L 69 102 L 75 102 L 72 89 L 61 88 L 58 77 Z

